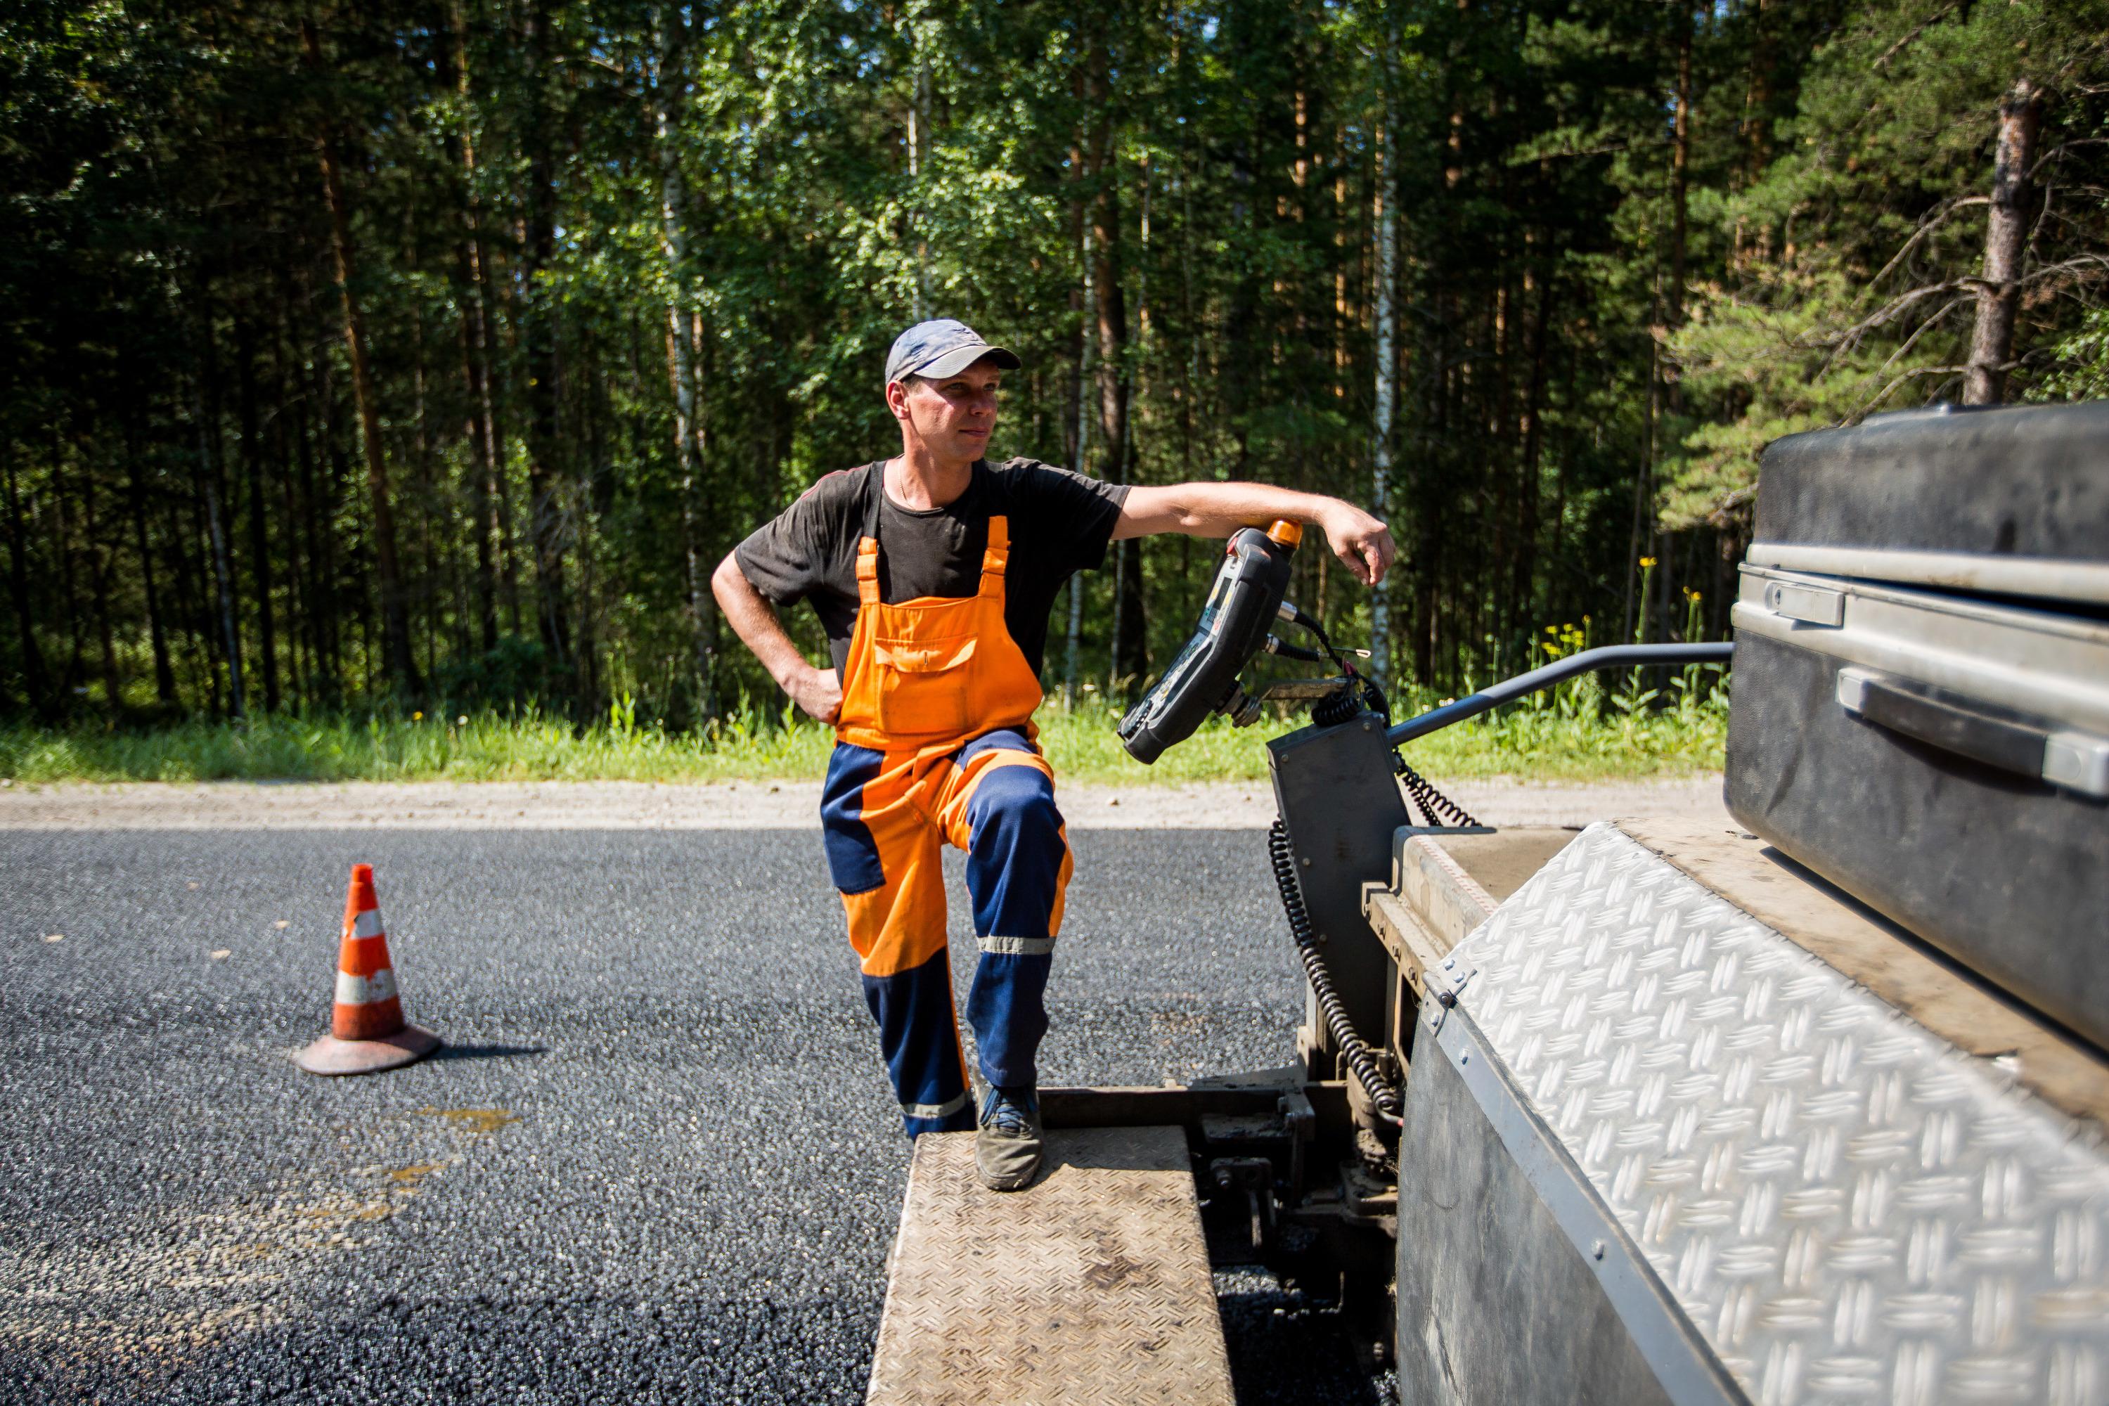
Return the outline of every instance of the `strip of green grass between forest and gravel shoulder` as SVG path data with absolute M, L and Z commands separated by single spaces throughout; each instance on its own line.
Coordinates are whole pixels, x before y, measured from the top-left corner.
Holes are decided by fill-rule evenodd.
M 1725 689 L 1698 670 L 1672 681 L 1670 698 L 1628 683 L 1607 696 L 1594 679 L 1556 696 L 1449 727 L 1407 748 L 1430 776 L 1525 776 L 1607 780 L 1685 776 L 1721 767 L 1727 736 Z M 1409 717 L 1438 698 L 1413 698 Z M 1116 712 L 1086 700 L 1076 710 L 1040 710 L 1042 746 L 1061 776 L 1080 782 L 1259 780 L 1261 746 L 1301 725 L 1265 719 L 1232 729 L 1211 719 L 1158 765 L 1128 759 L 1114 736 Z M 205 780 L 637 780 L 721 782 L 818 778 L 831 734 L 782 712 L 744 710 L 715 731 L 669 734 L 637 723 L 622 704 L 593 727 L 544 715 L 472 717 L 268 717 L 249 723 L 177 723 L 152 731 L 93 725 L 42 729 L 0 725 L 0 778 L 49 782 L 205 782 Z

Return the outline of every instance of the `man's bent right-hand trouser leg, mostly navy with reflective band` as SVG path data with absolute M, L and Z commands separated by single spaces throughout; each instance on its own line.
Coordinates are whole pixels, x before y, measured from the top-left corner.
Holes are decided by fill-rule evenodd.
M 964 841 L 981 938 L 966 1018 L 981 1073 L 998 1086 L 1038 1083 L 1048 970 L 1071 866 L 1054 776 L 1038 753 L 1025 750 L 1023 738 L 1008 746 L 1012 736 L 1000 734 L 995 748 L 962 755 L 962 803 L 947 807 L 949 837 Z

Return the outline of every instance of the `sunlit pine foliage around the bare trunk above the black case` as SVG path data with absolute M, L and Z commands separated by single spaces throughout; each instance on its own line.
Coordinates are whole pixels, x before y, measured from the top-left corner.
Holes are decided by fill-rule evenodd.
M 2018 80 L 2052 97 L 2010 398 L 2101 394 L 2071 363 L 2098 356 L 2088 304 L 2109 272 L 2109 202 L 2084 175 L 2098 162 L 2090 139 L 2105 116 L 2109 6 L 1831 8 L 1797 105 L 1778 122 L 1778 156 L 1740 190 L 1691 207 L 1731 257 L 1694 287 L 1689 323 L 1664 337 L 1683 392 L 1662 493 L 1670 525 L 1746 523 L 1757 455 L 1782 434 L 1959 398 L 1989 139 Z

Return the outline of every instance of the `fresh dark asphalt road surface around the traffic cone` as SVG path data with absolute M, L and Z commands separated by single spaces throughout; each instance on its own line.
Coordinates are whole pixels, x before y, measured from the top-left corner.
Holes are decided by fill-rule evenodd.
M 1042 1079 L 1286 1062 L 1263 835 L 1076 850 Z M 449 1048 L 316 1079 L 356 860 Z M 858 1402 L 907 1176 L 818 831 L 0 831 L 0 1126 L 4 1402 Z M 1388 1400 L 1219 1292 L 1240 1402 Z

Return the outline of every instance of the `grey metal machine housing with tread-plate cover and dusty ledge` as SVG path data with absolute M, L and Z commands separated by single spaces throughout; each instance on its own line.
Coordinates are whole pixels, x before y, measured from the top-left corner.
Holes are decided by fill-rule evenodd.
M 1757 845 L 1622 824 L 1428 974 L 1400 1400 L 2101 1402 L 2101 1065 Z M 2075 1107 L 2023 1083 L 2060 1060 Z

